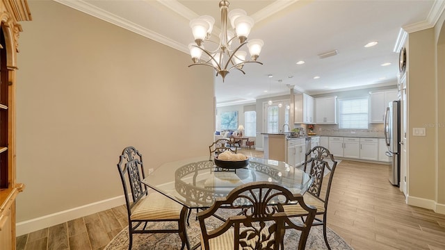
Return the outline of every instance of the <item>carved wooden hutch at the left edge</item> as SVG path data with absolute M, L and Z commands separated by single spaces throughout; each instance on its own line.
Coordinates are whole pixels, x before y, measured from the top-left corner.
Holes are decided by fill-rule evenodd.
M 0 248 L 15 249 L 15 74 L 19 22 L 31 21 L 26 0 L 0 0 Z

